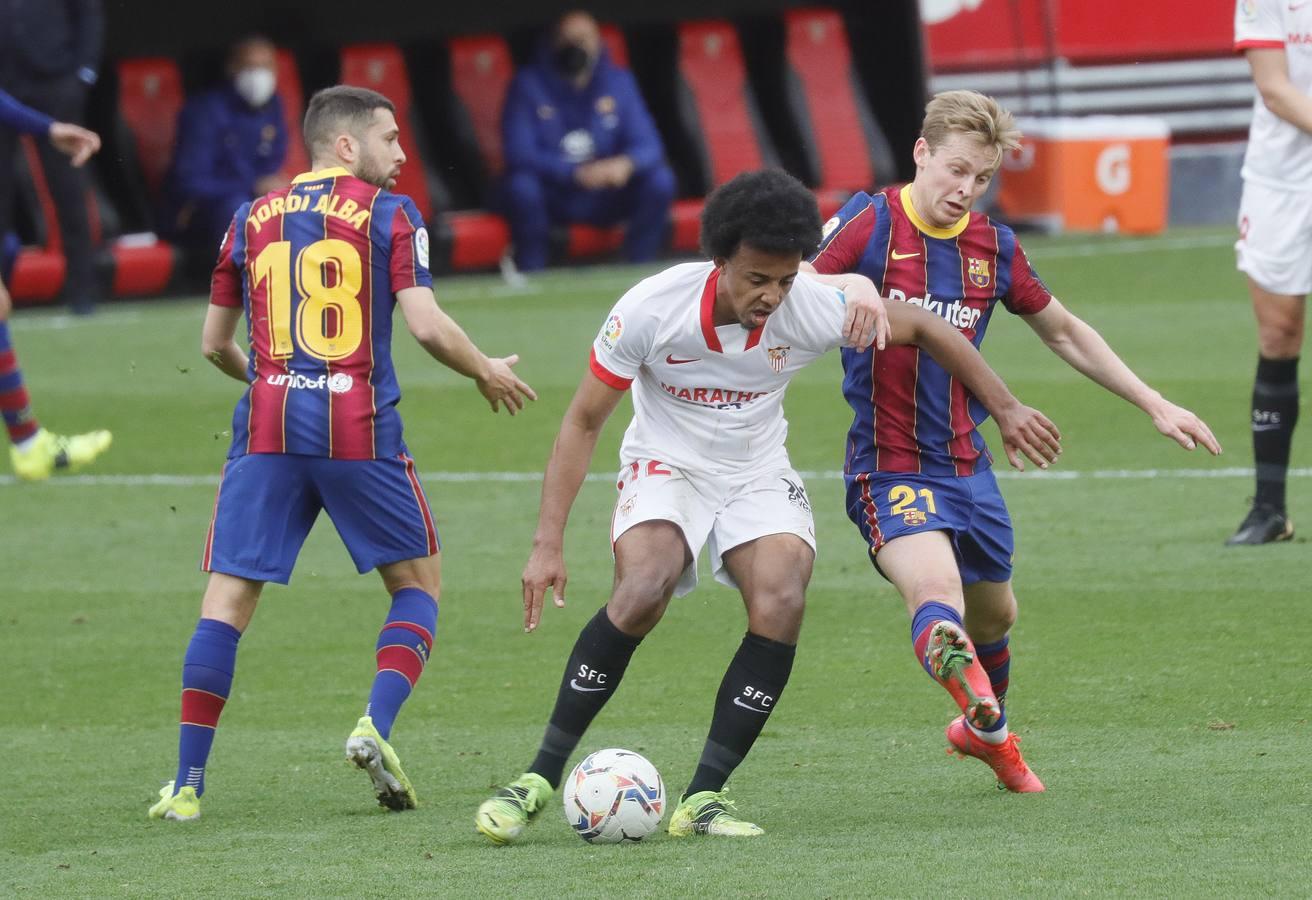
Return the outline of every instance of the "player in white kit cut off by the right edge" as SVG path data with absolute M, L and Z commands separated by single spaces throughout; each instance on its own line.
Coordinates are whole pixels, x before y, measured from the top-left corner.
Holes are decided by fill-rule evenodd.
M 1235 49 L 1257 84 L 1244 155 L 1239 269 L 1257 316 L 1253 457 L 1257 493 L 1227 544 L 1288 541 L 1290 443 L 1299 415 L 1299 350 L 1312 291 L 1312 4 L 1239 0 Z

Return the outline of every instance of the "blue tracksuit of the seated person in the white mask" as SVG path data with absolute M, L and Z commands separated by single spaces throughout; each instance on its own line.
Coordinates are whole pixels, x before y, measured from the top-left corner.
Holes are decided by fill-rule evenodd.
M 256 181 L 281 169 L 286 157 L 278 94 L 260 109 L 232 85 L 189 98 L 177 122 L 165 228 L 189 243 L 218 248 L 232 213 L 255 198 Z

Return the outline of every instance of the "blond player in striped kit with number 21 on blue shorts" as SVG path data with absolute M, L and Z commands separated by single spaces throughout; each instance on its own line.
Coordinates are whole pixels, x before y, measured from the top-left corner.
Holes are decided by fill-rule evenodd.
M 935 96 L 916 142 L 916 177 L 874 197 L 857 194 L 825 226 L 812 265 L 859 272 L 886 297 L 914 303 L 958 327 L 976 348 L 998 302 L 1081 374 L 1148 413 L 1193 450 L 1220 453 L 1207 425 L 1144 384 L 1088 324 L 1047 290 L 1006 226 L 971 211 L 1019 146 L 1010 113 L 971 91 Z M 901 593 L 912 643 L 962 715 L 951 749 L 987 762 L 1012 791 L 1042 791 L 1006 724 L 1012 521 L 979 433 L 987 413 L 959 382 L 916 346 L 848 350 L 848 514 L 876 569 Z M 1015 449 L 1010 462 L 1021 467 Z

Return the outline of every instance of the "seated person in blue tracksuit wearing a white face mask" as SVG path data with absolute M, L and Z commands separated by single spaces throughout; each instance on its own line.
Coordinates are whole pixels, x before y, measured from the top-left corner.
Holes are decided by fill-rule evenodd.
M 237 42 L 228 52 L 227 81 L 190 97 L 178 117 L 163 222 L 171 237 L 206 262 L 236 207 L 287 185 L 276 64 L 268 38 Z

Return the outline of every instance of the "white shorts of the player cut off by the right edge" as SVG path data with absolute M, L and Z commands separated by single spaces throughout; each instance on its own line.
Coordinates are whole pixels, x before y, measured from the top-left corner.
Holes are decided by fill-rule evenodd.
M 1245 181 L 1235 253 L 1239 270 L 1273 294 L 1312 291 L 1312 192 Z

